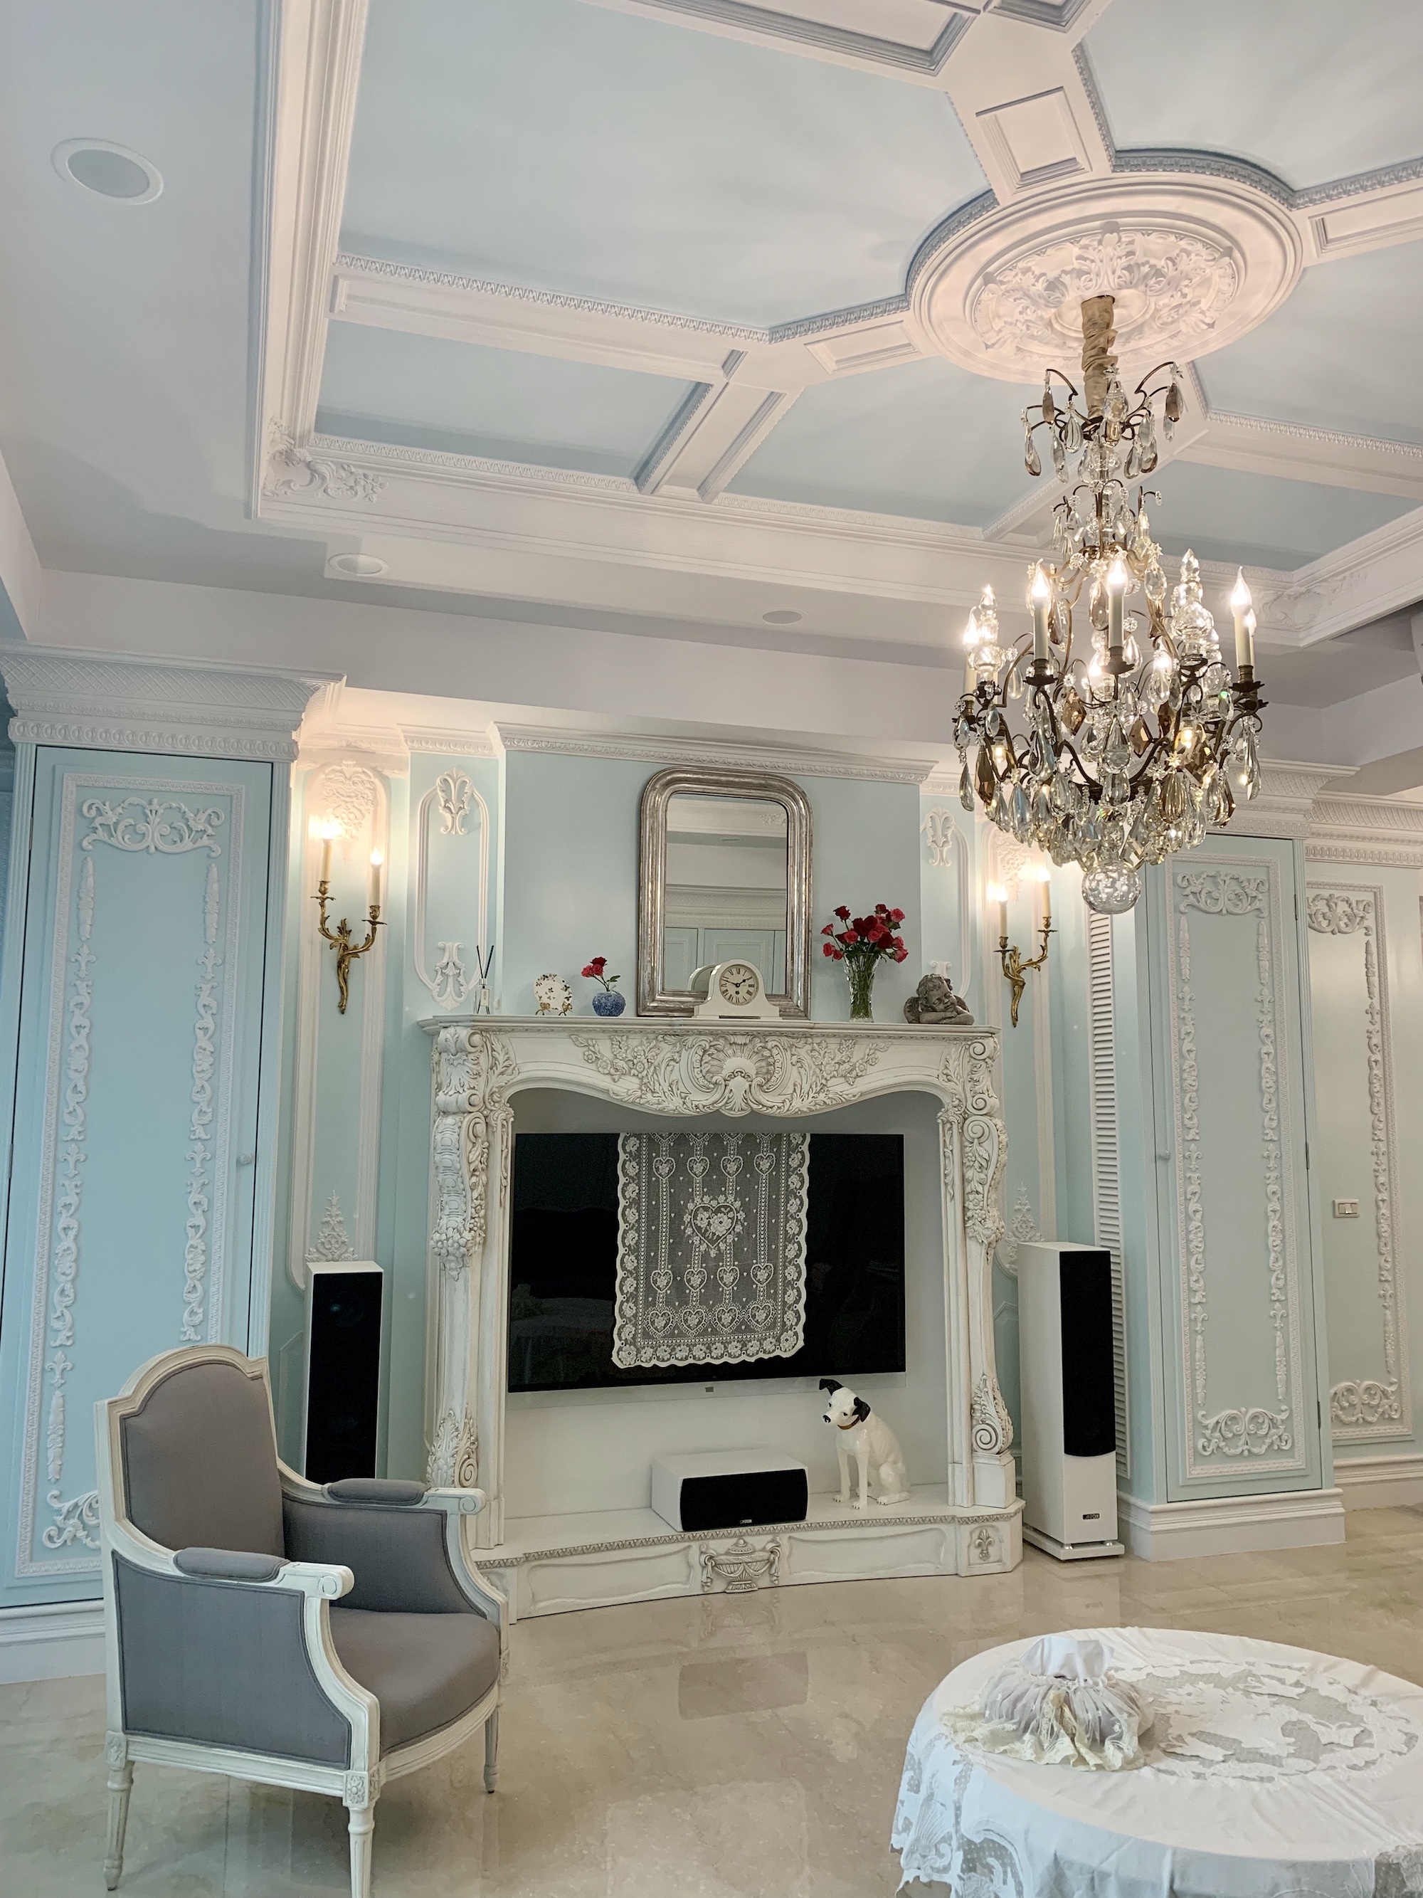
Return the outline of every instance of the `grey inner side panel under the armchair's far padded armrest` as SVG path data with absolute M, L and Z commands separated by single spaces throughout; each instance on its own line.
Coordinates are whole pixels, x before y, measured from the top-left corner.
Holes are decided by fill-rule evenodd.
M 444 1511 L 366 1509 L 288 1494 L 285 1513 L 288 1560 L 340 1562 L 355 1575 L 347 1608 L 478 1617 L 450 1568 Z

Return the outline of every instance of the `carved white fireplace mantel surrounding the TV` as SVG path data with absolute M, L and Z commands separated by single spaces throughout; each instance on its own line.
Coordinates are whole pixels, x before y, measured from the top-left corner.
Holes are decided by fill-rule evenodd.
M 886 1093 L 939 1099 L 947 1351 L 945 1509 L 1015 1511 L 1011 1422 L 992 1344 L 1006 1133 L 989 1029 L 588 1017 L 436 1017 L 431 1192 L 429 1480 L 478 1486 L 478 1543 L 505 1539 L 510 1097 L 564 1088 L 668 1116 L 823 1114 Z M 1011 1566 L 1011 1564 L 1007 1564 Z

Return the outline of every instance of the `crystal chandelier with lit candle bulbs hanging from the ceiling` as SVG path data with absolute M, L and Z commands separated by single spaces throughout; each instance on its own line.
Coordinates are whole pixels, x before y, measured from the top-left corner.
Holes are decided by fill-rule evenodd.
M 1180 562 L 1167 602 L 1150 490 L 1137 488 L 1133 509 L 1127 484 L 1155 469 L 1157 402 L 1167 440 L 1180 419 L 1180 370 L 1161 363 L 1125 395 L 1112 306 L 1110 296 L 1081 306 L 1081 395 L 1049 370 L 1042 402 L 1023 412 L 1028 473 L 1042 474 L 1034 437 L 1045 431 L 1063 482 L 1055 560 L 1028 569 L 1030 642 L 1002 642 L 992 588 L 983 588 L 964 634 L 954 725 L 964 809 L 973 810 L 977 791 L 1000 829 L 1055 864 L 1080 864 L 1085 902 L 1106 915 L 1137 902 L 1142 864 L 1193 848 L 1207 826 L 1228 824 L 1256 795 L 1266 702 L 1245 575 L 1229 600 L 1235 679 L 1201 600 L 1195 554 Z M 1015 733 L 1007 702 L 1025 693 L 1026 731 Z

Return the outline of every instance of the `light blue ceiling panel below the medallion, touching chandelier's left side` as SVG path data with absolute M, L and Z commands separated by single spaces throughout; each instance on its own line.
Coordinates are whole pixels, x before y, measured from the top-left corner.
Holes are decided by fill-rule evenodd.
M 1032 399 L 939 357 L 823 381 L 772 429 L 732 492 L 981 528 L 1030 486 L 1019 416 Z

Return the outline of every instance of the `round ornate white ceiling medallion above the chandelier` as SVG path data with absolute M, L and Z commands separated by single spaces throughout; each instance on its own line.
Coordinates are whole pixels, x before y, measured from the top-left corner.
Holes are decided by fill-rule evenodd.
M 1258 178 L 1118 173 L 949 232 L 918 258 L 909 296 L 930 347 L 979 376 L 1036 381 L 1076 344 L 1089 296 L 1116 298 L 1131 361 L 1186 361 L 1264 323 L 1302 264 L 1300 233 Z

